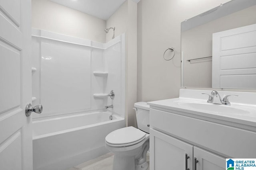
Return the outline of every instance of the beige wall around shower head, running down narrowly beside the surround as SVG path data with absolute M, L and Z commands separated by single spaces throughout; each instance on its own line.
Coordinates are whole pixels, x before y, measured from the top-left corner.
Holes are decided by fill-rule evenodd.
M 132 108 L 137 102 L 137 3 L 126 0 L 106 21 L 106 27 L 116 27 L 116 36 L 125 33 L 126 125 L 136 127 L 136 115 Z M 112 39 L 112 36 L 111 29 L 106 35 L 106 41 Z

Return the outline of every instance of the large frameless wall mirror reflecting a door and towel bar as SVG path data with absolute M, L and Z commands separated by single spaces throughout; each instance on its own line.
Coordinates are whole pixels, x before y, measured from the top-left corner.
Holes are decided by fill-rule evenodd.
M 255 23 L 255 0 L 231 0 L 183 21 L 182 87 L 256 89 Z

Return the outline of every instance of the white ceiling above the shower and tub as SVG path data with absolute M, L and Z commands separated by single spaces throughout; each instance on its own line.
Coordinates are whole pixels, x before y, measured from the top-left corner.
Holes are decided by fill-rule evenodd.
M 108 20 L 126 0 L 50 0 L 69 8 Z M 140 0 L 133 0 L 138 3 Z

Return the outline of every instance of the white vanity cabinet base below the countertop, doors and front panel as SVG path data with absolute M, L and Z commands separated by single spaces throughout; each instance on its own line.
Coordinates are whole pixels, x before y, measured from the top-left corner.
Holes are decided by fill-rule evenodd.
M 225 170 L 226 158 L 256 158 L 255 127 L 222 123 L 150 105 L 150 170 Z

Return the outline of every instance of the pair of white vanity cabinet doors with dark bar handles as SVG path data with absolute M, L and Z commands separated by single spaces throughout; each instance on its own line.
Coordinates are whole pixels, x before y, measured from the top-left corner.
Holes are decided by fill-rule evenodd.
M 226 158 L 154 129 L 150 129 L 150 150 L 153 170 L 193 170 L 195 158 L 196 170 L 225 170 Z

